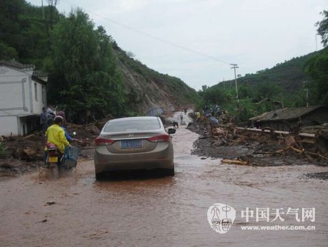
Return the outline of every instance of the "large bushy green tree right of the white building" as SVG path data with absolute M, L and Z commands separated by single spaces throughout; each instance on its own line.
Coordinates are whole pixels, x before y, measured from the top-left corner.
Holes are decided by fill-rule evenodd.
M 98 117 L 124 112 L 123 77 L 111 40 L 82 10 L 55 25 L 47 64 L 49 101 L 63 105 L 73 120 L 83 121 L 88 111 Z

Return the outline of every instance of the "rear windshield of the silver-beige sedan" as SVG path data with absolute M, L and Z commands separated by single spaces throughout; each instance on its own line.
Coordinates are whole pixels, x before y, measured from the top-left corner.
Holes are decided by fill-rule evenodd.
M 142 119 L 142 120 L 123 120 L 107 123 L 105 132 L 125 132 L 125 131 L 151 131 L 161 129 L 159 120 Z

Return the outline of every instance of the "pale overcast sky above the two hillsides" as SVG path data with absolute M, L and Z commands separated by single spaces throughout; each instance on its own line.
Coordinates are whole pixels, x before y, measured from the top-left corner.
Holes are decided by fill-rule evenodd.
M 59 0 L 57 8 L 76 6 L 143 64 L 198 90 L 234 78 L 230 63 L 245 75 L 315 51 L 314 23 L 328 1 Z

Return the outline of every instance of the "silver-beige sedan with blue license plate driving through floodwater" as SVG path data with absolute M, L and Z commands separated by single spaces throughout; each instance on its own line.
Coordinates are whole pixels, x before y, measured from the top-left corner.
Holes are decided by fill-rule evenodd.
M 96 138 L 96 179 L 118 170 L 160 169 L 174 175 L 172 136 L 161 118 L 142 116 L 109 120 Z

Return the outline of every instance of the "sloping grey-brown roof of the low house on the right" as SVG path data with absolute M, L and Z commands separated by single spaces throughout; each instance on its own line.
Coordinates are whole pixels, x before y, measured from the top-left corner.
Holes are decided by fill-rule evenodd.
M 298 107 L 298 108 L 284 108 L 276 109 L 272 112 L 265 112 L 264 114 L 249 118 L 249 120 L 255 120 L 257 122 L 262 121 L 275 121 L 275 120 L 290 120 L 309 114 L 316 109 L 325 107 L 324 105 L 313 105 L 309 107 Z

